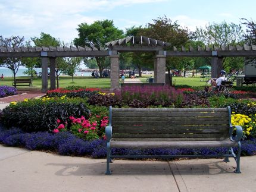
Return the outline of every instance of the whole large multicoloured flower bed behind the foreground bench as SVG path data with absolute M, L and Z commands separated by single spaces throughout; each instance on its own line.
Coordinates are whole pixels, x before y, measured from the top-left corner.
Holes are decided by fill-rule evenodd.
M 76 89 L 74 89 L 76 88 Z M 242 91 L 234 95 L 245 95 Z M 52 96 L 52 97 L 50 97 Z M 190 88 L 124 87 L 121 92 L 103 93 L 99 89 L 71 87 L 48 92 L 41 99 L 12 102 L 2 111 L 0 142 L 27 149 L 51 150 L 61 155 L 105 157 L 104 130 L 108 124 L 108 106 L 118 108 L 224 108 L 231 106 L 232 123 L 241 125 L 243 155 L 256 151 L 256 103 L 221 93 L 205 93 Z M 243 122 L 242 122 L 243 121 Z M 248 121 L 248 122 L 247 122 Z M 46 132 L 48 131 L 48 132 Z M 113 155 L 186 155 L 218 154 L 218 149 L 113 149 Z

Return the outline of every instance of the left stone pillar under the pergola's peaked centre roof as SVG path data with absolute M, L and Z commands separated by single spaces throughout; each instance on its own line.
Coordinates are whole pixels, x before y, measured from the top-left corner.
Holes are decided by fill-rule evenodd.
M 111 91 L 114 89 L 119 89 L 119 55 L 115 53 L 110 55 L 110 82 L 111 82 Z

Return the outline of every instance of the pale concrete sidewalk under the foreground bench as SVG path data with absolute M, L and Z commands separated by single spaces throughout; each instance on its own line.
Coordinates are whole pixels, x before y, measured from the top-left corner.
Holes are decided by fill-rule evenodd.
M 60 156 L 0 145 L 0 191 L 255 191 L 256 156 L 235 160 L 114 160 Z

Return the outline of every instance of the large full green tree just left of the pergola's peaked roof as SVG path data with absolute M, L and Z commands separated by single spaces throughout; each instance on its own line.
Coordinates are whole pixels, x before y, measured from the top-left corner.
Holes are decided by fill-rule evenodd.
M 123 37 L 123 31 L 114 27 L 113 20 L 95 21 L 92 24 L 82 23 L 77 28 L 78 36 L 74 39 L 76 46 L 95 46 L 98 49 L 106 48 L 105 43 L 111 40 L 120 39 Z M 106 63 L 105 57 L 95 57 L 100 77 Z

